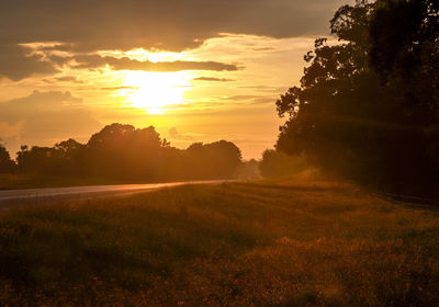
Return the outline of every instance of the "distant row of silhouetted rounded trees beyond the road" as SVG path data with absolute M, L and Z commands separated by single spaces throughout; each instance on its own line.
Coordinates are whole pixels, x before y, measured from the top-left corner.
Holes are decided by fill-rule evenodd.
M 225 140 L 170 145 L 153 126 L 112 124 L 87 144 L 68 139 L 54 147 L 22 146 L 13 161 L 0 146 L 0 173 L 93 177 L 115 181 L 226 179 L 241 164 L 239 148 Z

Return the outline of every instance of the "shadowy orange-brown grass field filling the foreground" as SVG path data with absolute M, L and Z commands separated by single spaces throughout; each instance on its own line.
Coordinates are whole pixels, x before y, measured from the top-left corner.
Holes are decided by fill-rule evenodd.
M 0 305 L 438 306 L 439 214 L 329 181 L 0 214 Z

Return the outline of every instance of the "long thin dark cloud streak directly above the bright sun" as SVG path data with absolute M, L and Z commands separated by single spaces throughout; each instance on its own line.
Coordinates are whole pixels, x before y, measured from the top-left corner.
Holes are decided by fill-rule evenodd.
M 114 70 L 145 70 L 145 71 L 181 71 L 181 70 L 238 70 L 234 64 L 224 64 L 217 61 L 140 61 L 127 57 L 101 57 L 99 55 L 75 56 L 72 59 L 77 62 L 72 68 L 93 69 L 109 65 Z

